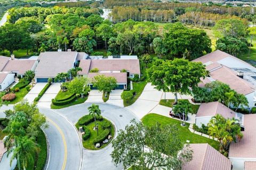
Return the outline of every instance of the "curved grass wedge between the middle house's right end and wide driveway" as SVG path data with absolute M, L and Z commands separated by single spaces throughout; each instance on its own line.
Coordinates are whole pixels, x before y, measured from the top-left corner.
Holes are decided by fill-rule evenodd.
M 124 106 L 130 106 L 132 105 L 141 95 L 144 87 L 147 84 L 147 80 L 141 81 L 141 82 L 132 82 L 133 90 L 136 91 L 136 95 L 133 96 L 133 98 L 129 101 L 124 101 Z

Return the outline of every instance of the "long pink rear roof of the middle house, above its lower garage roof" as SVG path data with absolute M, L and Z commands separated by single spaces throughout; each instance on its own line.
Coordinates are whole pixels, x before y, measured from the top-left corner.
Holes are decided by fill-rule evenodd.
M 98 68 L 99 71 L 121 71 L 125 69 L 131 74 L 140 74 L 139 60 L 92 60 L 90 70 L 94 68 Z

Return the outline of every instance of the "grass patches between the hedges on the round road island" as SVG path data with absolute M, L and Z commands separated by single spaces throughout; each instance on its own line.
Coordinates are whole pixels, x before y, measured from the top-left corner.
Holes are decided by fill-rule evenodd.
M 99 123 L 99 134 L 100 134 L 100 133 L 103 131 L 103 129 L 101 128 L 100 121 L 96 121 L 96 122 Z M 78 125 L 76 125 L 76 126 L 78 126 Z M 86 125 L 86 126 L 87 126 L 87 128 L 90 129 L 90 138 L 87 139 L 87 140 L 85 140 L 85 141 L 83 141 L 83 146 L 84 146 L 84 148 L 86 148 L 86 149 L 98 150 L 98 149 L 104 148 L 104 147 L 106 147 L 106 146 L 110 143 L 110 141 L 113 139 L 113 138 L 111 138 L 108 143 L 103 144 L 100 148 L 96 148 L 96 147 L 94 147 L 94 144 L 93 144 L 94 138 L 97 137 L 97 131 L 94 131 L 94 130 L 93 130 L 93 127 L 95 126 L 95 123 L 92 122 L 92 123 L 90 123 L 90 124 L 88 124 L 88 125 Z M 79 127 L 78 127 L 78 128 L 79 128 Z M 110 135 L 111 135 L 112 137 L 115 136 L 115 128 L 114 128 L 114 125 L 113 125 L 112 123 L 111 123 Z

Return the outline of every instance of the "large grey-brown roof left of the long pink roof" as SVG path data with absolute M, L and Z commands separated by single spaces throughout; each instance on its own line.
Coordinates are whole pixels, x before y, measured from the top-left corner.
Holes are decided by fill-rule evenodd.
M 40 53 L 35 70 L 36 78 L 54 78 L 58 73 L 67 72 L 74 67 L 77 52 Z

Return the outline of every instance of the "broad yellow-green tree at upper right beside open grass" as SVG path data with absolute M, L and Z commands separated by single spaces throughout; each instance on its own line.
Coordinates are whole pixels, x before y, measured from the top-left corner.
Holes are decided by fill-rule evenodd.
M 246 27 L 241 20 L 225 19 L 219 20 L 214 26 L 214 33 L 217 37 L 241 38 L 246 33 Z

